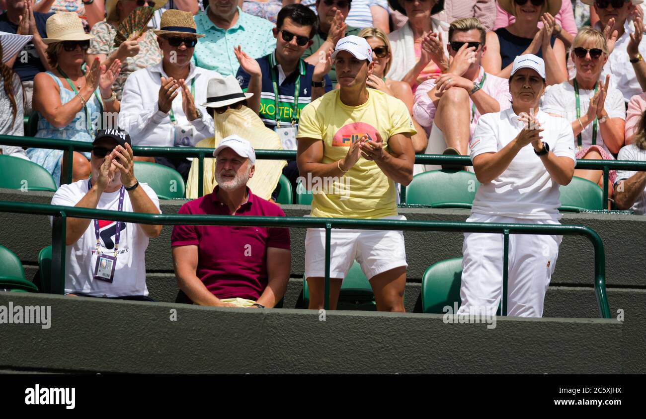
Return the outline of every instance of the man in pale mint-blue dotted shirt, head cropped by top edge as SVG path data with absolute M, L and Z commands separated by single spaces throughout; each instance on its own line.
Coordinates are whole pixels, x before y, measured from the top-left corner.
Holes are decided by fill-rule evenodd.
M 274 24 L 242 12 L 237 0 L 209 0 L 206 10 L 194 19 L 198 33 L 205 34 L 195 46 L 194 63 L 222 76 L 235 76 L 238 71 L 236 46 L 253 58 L 271 54 L 276 47 Z

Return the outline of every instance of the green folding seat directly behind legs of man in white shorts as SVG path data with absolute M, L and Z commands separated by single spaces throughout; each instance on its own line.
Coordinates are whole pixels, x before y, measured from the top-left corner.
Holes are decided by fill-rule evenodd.
M 303 301 L 305 302 L 305 307 L 307 307 L 309 305 L 309 287 L 307 287 L 307 280 L 305 278 L 303 278 Z M 373 294 L 370 282 L 368 282 L 363 271 L 361 271 L 361 267 L 357 261 L 353 263 L 348 272 L 348 276 L 346 276 L 341 284 L 337 310 L 377 310 L 375 294 Z

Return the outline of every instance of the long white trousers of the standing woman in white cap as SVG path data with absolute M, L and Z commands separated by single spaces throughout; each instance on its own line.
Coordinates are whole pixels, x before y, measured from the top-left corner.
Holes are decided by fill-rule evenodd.
M 559 224 L 556 220 L 527 220 L 471 214 L 474 223 Z M 545 292 L 559 256 L 563 236 L 545 234 L 510 234 L 507 275 L 507 315 L 543 316 Z M 503 292 L 503 235 L 464 233 L 462 305 L 458 314 L 482 312 L 483 307 L 496 312 Z

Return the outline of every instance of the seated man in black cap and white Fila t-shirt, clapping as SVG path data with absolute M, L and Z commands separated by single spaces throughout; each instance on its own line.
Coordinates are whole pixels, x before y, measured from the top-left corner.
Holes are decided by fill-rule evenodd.
M 155 192 L 134 177 L 130 136 L 101 130 L 92 145 L 92 178 L 61 185 L 52 205 L 160 214 Z M 161 225 L 68 218 L 65 294 L 151 300 L 145 251 L 160 233 Z

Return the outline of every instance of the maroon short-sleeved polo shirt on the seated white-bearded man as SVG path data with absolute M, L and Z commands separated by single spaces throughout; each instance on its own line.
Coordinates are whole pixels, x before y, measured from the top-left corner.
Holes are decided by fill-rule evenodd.
M 231 215 L 215 191 L 182 205 L 178 214 Z M 255 196 L 236 216 L 284 217 L 276 205 Z M 267 248 L 289 249 L 287 227 L 233 227 L 224 225 L 175 225 L 171 247 L 198 247 L 197 276 L 216 297 L 258 300 L 267 287 Z

